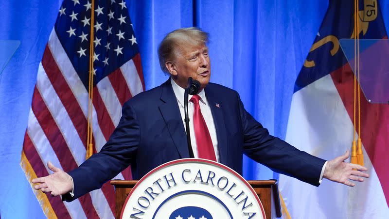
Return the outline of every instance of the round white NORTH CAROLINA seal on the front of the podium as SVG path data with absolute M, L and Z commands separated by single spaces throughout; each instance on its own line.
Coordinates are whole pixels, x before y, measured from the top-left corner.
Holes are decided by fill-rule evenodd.
M 165 163 L 128 194 L 121 219 L 265 219 L 254 189 L 229 167 L 206 159 Z

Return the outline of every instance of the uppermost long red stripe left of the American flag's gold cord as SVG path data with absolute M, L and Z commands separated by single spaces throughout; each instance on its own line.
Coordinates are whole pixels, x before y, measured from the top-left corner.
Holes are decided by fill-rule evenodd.
M 42 58 L 42 66 L 46 71 L 47 77 L 53 85 L 55 92 L 64 105 L 66 111 L 71 118 L 79 138 L 81 139 L 84 147 L 87 148 L 87 128 L 88 122 L 84 113 L 78 104 L 77 99 L 72 93 L 68 82 L 63 77 L 58 65 L 56 64 L 53 54 L 48 45 L 46 45 Z

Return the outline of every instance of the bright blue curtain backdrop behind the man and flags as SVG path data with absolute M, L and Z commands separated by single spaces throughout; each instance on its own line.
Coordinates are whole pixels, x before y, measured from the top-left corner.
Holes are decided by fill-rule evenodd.
M 61 2 L 0 0 L 0 40 L 21 41 L 0 75 L 1 218 L 45 217 L 19 161 L 38 64 Z M 389 27 L 389 0 L 380 3 Z M 196 24 L 211 35 L 211 81 L 237 90 L 246 109 L 282 139 L 294 81 L 327 6 L 326 0 L 127 0 L 147 90 L 167 79 L 159 69 L 160 40 Z M 247 179 L 278 177 L 247 158 L 244 167 Z

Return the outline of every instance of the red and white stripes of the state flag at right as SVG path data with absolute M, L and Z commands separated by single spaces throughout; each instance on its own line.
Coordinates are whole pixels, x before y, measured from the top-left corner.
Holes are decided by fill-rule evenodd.
M 286 141 L 324 159 L 350 150 L 353 84 L 353 73 L 346 64 L 293 94 Z M 353 188 L 327 180 L 316 188 L 280 175 L 280 190 L 292 218 L 370 219 L 389 215 L 389 106 L 370 104 L 361 96 L 361 121 L 370 178 Z

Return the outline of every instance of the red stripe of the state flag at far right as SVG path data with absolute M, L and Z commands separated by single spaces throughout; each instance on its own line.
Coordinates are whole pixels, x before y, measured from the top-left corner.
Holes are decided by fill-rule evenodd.
M 347 63 L 331 73 L 336 89 L 353 121 L 354 74 Z M 371 104 L 361 91 L 361 140 L 389 203 L 389 105 Z M 357 118 L 357 117 L 356 117 Z M 356 119 L 356 122 L 357 119 Z M 354 124 L 358 127 L 358 124 Z M 358 130 L 358 128 L 357 128 Z M 351 142 L 350 142 L 351 145 Z

